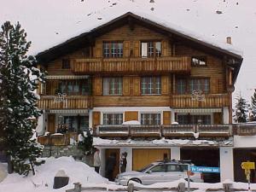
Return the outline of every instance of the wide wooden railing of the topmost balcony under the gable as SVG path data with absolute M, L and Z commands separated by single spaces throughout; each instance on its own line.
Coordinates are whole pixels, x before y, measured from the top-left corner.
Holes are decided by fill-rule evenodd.
M 191 58 L 93 58 L 78 59 L 73 62 L 74 73 L 190 73 Z

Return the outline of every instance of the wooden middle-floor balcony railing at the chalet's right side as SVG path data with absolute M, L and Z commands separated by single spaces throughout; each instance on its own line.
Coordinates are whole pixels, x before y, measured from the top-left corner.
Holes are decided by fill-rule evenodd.
M 191 95 L 172 95 L 172 108 L 223 108 L 230 105 L 228 94 L 208 94 L 205 101 L 192 100 Z

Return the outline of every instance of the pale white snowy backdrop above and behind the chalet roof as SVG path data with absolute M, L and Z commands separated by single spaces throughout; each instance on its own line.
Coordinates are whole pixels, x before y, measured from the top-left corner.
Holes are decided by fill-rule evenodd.
M 256 88 L 255 0 L 0 0 L 0 4 L 0 24 L 5 20 L 20 21 L 32 41 L 30 54 L 49 49 L 128 11 L 163 18 L 223 43 L 231 36 L 244 57 L 234 96 L 241 91 L 249 99 Z M 217 14 L 217 10 L 223 14 Z

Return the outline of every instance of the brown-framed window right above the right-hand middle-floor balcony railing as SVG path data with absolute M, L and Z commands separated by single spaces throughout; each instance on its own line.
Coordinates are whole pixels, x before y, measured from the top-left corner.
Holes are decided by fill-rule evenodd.
M 193 90 L 202 90 L 203 93 L 210 92 L 210 80 L 209 79 L 189 79 L 189 92 Z

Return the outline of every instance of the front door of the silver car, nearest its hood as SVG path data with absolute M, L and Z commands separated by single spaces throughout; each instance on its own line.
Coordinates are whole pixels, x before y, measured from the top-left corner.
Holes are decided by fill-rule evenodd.
M 143 184 L 163 182 L 166 174 L 166 165 L 156 165 L 148 169 L 142 177 Z

